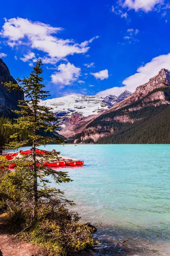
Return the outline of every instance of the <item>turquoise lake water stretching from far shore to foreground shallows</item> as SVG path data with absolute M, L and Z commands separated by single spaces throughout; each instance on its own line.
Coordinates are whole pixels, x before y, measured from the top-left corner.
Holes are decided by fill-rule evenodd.
M 74 181 L 59 185 L 83 221 L 102 222 L 100 244 L 85 255 L 170 255 L 170 145 L 53 148 L 85 162 L 63 168 Z

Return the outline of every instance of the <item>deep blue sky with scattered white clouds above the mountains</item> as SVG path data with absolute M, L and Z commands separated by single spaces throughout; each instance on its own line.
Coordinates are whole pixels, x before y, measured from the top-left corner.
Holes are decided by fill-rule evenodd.
M 41 58 L 51 97 L 119 95 L 170 69 L 168 1 L 8 0 L 0 31 L 11 75 L 28 76 Z

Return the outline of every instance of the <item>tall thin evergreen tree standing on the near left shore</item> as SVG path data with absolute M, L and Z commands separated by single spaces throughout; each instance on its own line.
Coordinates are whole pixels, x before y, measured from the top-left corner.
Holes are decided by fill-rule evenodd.
M 32 198 L 34 217 L 38 200 L 41 198 L 49 199 L 54 195 L 63 194 L 59 189 L 48 186 L 50 182 L 48 176 L 52 175 L 56 183 L 71 181 L 67 176 L 67 172 L 56 171 L 42 164 L 44 160 L 48 161 L 56 158 L 58 152 L 48 155 L 36 153 L 36 148 L 40 145 L 50 142 L 64 143 L 61 139 L 40 135 L 40 131 L 48 133 L 49 131 L 53 132 L 60 129 L 56 117 L 50 112 L 52 109 L 39 104 L 41 100 L 50 96 L 49 92 L 44 90 L 45 85 L 42 84 L 41 66 L 41 60 L 37 61 L 37 65 L 33 67 L 30 76 L 23 79 L 18 78 L 18 84 L 13 84 L 12 82 L 4 83 L 9 91 L 19 90 L 25 94 L 25 99 L 20 101 L 18 105 L 20 111 L 14 111 L 14 113 L 17 113 L 18 118 L 15 119 L 14 123 L 8 121 L 5 127 L 15 131 L 10 136 L 12 141 L 8 143 L 9 148 L 17 149 L 25 145 L 32 145 L 32 154 L 14 161 L 17 168 L 15 173 L 10 175 L 10 179 L 13 179 L 18 189 L 23 190 L 25 197 Z M 23 136 L 22 140 L 18 141 L 20 134 L 26 134 L 26 136 Z

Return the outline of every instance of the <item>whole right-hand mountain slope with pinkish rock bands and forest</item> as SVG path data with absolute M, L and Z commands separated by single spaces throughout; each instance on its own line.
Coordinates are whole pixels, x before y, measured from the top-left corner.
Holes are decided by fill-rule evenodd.
M 162 69 L 70 142 L 170 143 L 170 72 Z

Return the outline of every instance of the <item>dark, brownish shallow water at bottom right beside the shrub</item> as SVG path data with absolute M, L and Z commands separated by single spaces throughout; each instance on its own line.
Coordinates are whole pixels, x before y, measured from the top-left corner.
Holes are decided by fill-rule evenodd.
M 92 250 L 77 256 L 167 256 L 170 255 L 170 233 L 161 230 L 142 230 L 116 226 L 98 228 Z M 125 240 L 127 240 L 124 242 Z

